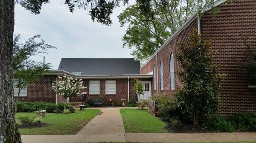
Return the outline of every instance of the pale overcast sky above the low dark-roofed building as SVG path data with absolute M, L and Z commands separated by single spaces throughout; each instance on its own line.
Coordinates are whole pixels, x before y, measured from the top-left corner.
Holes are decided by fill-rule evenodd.
M 122 36 L 126 28 L 120 27 L 117 18 L 124 8 L 114 9 L 111 15 L 113 24 L 106 26 L 93 22 L 82 9 L 70 13 L 61 0 L 51 0 L 38 15 L 16 4 L 14 34 L 20 34 L 21 40 L 41 34 L 41 39 L 47 44 L 57 47 L 48 50 L 49 54 L 32 58 L 43 61 L 45 56 L 53 69 L 58 68 L 61 58 L 132 58 L 132 50 L 122 48 Z

